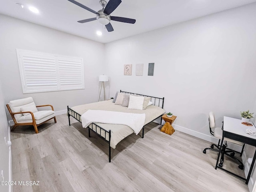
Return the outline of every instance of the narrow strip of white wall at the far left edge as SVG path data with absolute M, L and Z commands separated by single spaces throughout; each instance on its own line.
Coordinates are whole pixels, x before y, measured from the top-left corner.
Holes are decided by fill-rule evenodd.
M 6 137 L 6 140 L 9 140 L 9 129 L 4 107 L 5 103 L 2 92 L 2 82 L 0 81 L 0 181 L 2 181 L 2 170 L 4 173 L 4 181 L 9 181 L 9 176 L 11 175 L 9 171 L 9 148 L 4 140 L 4 137 Z M 7 192 L 8 188 L 8 186 L 0 185 L 0 191 Z

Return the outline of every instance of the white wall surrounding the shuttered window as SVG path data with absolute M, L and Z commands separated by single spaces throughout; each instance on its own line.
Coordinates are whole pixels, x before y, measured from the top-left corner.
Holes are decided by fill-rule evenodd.
M 98 75 L 103 73 L 104 44 L 0 15 L 0 80 L 4 103 L 32 96 L 37 105 L 53 104 L 55 111 L 98 101 Z M 16 48 L 84 59 L 85 89 L 23 94 Z

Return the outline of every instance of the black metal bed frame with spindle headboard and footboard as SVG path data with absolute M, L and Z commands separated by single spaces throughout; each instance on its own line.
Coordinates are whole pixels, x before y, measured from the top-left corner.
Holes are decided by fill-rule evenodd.
M 120 90 L 120 92 L 125 93 L 125 94 L 130 94 L 130 95 L 139 95 L 139 96 L 150 97 L 151 98 L 150 101 L 153 102 L 154 106 L 164 108 L 164 97 L 158 98 L 158 97 L 152 97 L 152 96 L 147 96 L 147 95 L 142 95 L 142 94 L 126 92 L 126 91 L 122 91 L 122 90 Z M 160 104 L 162 104 L 162 106 L 160 106 Z M 68 108 L 68 124 L 69 124 L 69 126 L 70 126 L 70 116 L 72 116 L 73 118 L 78 120 L 80 123 L 82 123 L 81 115 L 78 114 L 77 112 L 75 112 L 74 110 L 72 110 L 71 108 L 69 108 L 68 106 L 67 106 L 67 108 Z M 160 124 L 161 124 L 162 123 L 162 115 L 158 116 L 157 118 L 159 118 L 159 117 L 161 117 L 161 121 L 160 121 Z M 156 120 L 157 118 L 155 118 L 154 120 Z M 152 120 L 152 121 L 154 121 L 154 120 Z M 149 123 L 151 123 L 151 122 L 149 122 Z M 149 124 L 149 123 L 147 123 L 147 124 Z M 144 125 L 142 128 L 142 138 L 144 138 L 144 127 L 146 125 Z M 101 126 L 98 126 L 95 123 L 90 124 L 89 126 L 87 126 L 87 128 L 88 128 L 88 136 L 89 137 L 91 137 L 90 131 L 92 130 L 94 133 L 96 133 L 96 135 L 98 135 L 100 138 L 102 138 L 104 141 L 106 141 L 108 143 L 108 161 L 111 162 L 111 147 L 110 147 L 111 130 L 106 130 L 106 129 L 102 128 Z

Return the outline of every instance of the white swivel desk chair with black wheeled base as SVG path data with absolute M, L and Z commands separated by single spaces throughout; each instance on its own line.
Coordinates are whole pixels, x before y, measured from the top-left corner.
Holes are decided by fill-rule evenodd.
M 222 122 L 223 123 L 223 122 Z M 216 138 L 218 138 L 219 139 L 219 142 L 218 142 L 218 145 L 216 145 L 216 144 L 212 144 L 211 145 L 211 148 L 205 148 L 204 150 L 203 150 L 203 153 L 204 154 L 206 154 L 206 150 L 213 150 L 213 151 L 217 151 L 217 152 L 219 152 L 220 151 L 220 148 L 221 148 L 221 146 L 220 146 L 220 141 L 222 140 L 222 132 L 223 132 L 223 124 L 222 124 L 222 128 L 219 128 L 219 127 L 216 127 L 215 128 L 215 116 L 214 116 L 214 112 L 210 112 L 209 113 L 209 127 L 210 127 L 210 133 L 214 136 L 214 137 L 216 137 Z M 215 128 L 214 129 L 214 132 L 212 131 L 212 129 L 213 128 Z M 237 152 L 237 153 L 239 153 L 240 154 L 240 156 L 242 156 L 242 153 L 243 153 L 243 151 L 244 151 L 244 143 L 241 143 L 241 142 L 239 142 L 239 141 L 236 141 L 236 140 L 232 140 L 232 139 L 229 139 L 229 138 L 224 138 L 224 144 L 223 144 L 223 146 L 222 146 L 222 152 L 221 152 L 221 158 L 220 158 L 220 164 L 219 164 L 219 166 L 220 167 L 222 167 L 222 165 L 223 165 L 223 162 L 224 162 L 224 154 L 225 155 L 227 155 L 227 156 L 229 156 L 230 158 L 232 158 L 232 159 L 234 159 L 236 162 L 238 162 L 240 165 L 238 166 L 240 169 L 244 169 L 244 165 L 243 165 L 243 163 L 240 161 L 240 160 L 238 160 L 237 158 L 235 158 L 234 157 L 234 155 L 235 155 L 235 152 L 237 152 L 237 151 L 234 151 L 234 150 L 231 150 L 231 149 L 229 149 L 229 148 L 227 148 L 227 141 L 228 142 L 230 142 L 230 143 L 234 143 L 234 144 L 238 144 L 238 145 L 240 145 L 240 146 L 243 146 L 242 147 L 242 151 L 241 152 Z M 214 148 L 214 146 L 216 147 L 216 149 Z M 228 149 L 228 150 L 226 150 L 226 149 Z

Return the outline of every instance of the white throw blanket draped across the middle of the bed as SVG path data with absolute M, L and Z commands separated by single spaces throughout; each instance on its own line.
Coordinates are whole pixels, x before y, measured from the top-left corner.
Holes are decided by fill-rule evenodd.
M 87 110 L 81 116 L 82 126 L 87 127 L 92 122 L 106 124 L 127 125 L 137 135 L 144 126 L 146 115 L 136 113 L 124 113 L 104 110 Z

